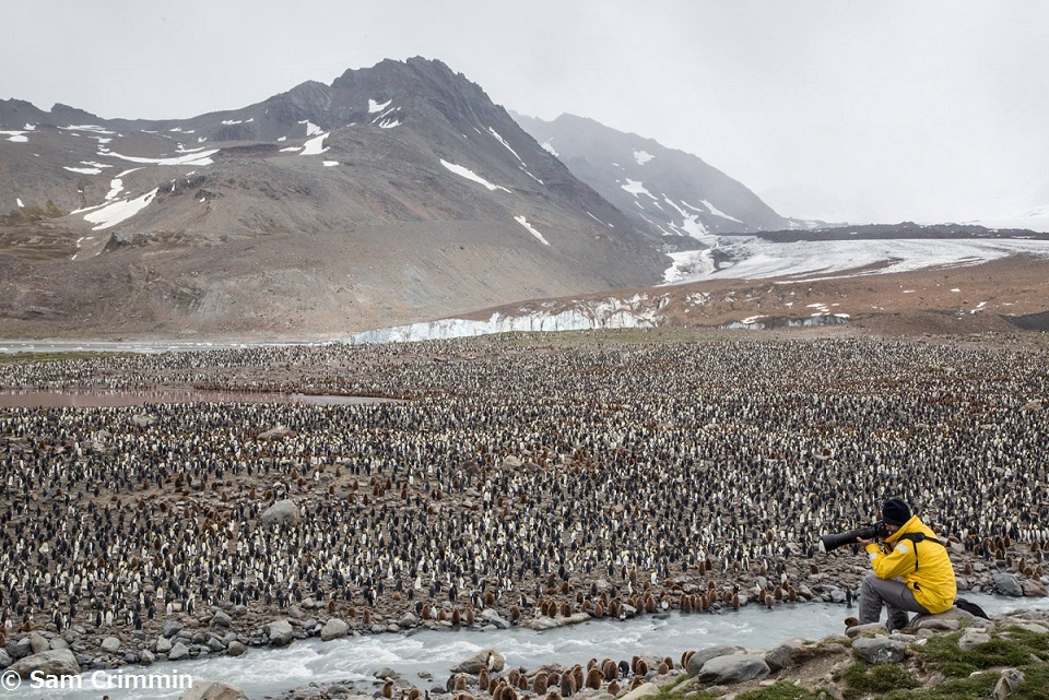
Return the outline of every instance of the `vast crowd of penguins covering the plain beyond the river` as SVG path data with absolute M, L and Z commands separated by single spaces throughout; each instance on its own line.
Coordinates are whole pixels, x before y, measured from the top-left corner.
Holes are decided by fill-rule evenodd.
M 220 608 L 255 630 L 293 605 L 363 630 L 771 607 L 854 589 L 863 561 L 818 536 L 887 495 L 956 543 L 959 574 L 1037 581 L 1047 372 L 1038 346 L 867 339 L 7 363 L 7 388 L 403 401 L 0 408 L 0 633 L 155 636 Z M 283 499 L 300 519 L 261 524 Z

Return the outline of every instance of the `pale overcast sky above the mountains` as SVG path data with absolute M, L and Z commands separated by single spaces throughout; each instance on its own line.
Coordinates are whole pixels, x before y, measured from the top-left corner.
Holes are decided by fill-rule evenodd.
M 1049 205 L 1045 0 L 34 0 L 0 98 L 181 118 L 440 59 L 496 103 L 693 153 L 788 216 Z

